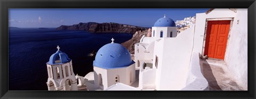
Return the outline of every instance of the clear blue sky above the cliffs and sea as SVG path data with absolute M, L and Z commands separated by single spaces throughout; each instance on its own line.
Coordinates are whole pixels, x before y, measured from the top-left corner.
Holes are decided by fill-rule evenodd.
M 209 9 L 9 9 L 9 27 L 57 28 L 79 22 L 115 22 L 152 27 L 164 14 L 183 20 Z

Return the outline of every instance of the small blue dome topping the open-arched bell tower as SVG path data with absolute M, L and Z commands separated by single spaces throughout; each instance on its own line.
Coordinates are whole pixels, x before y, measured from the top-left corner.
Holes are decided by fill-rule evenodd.
M 51 55 L 49 62 L 47 62 L 47 64 L 63 64 L 69 62 L 70 60 L 71 59 L 69 59 L 66 53 L 62 53 L 58 50 L 56 53 Z

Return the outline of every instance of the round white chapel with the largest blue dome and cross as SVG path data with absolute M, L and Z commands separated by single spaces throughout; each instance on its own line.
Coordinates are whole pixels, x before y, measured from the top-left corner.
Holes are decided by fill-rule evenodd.
M 131 85 L 135 81 L 135 62 L 121 44 L 112 42 L 102 46 L 93 61 L 94 85 L 106 89 L 116 83 Z

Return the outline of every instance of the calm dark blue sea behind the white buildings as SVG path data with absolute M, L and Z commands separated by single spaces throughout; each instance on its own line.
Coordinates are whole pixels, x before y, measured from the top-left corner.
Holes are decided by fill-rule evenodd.
M 46 62 L 60 50 L 73 60 L 74 73 L 93 71 L 87 54 L 111 43 L 123 43 L 130 34 L 92 34 L 85 31 L 38 28 L 9 29 L 9 90 L 47 90 Z

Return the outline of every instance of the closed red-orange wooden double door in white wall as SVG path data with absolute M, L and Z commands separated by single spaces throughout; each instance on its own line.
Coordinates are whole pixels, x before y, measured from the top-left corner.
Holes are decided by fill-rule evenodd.
M 224 59 L 229 27 L 230 20 L 208 21 L 204 55 L 215 59 Z

